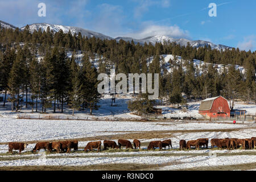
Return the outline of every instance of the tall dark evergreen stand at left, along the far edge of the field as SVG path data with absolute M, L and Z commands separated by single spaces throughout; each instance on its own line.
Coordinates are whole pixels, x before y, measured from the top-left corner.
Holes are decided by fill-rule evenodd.
M 20 110 L 25 103 L 32 106 L 32 112 L 42 106 L 42 113 L 53 107 L 53 112 L 64 111 L 64 104 L 70 108 L 90 109 L 90 114 L 97 109 L 101 95 L 97 92 L 98 72 L 90 63 L 89 56 L 84 55 L 81 66 L 77 65 L 76 53 L 71 59 L 61 47 L 46 50 L 46 55 L 38 60 L 32 54 L 31 47 L 24 44 L 14 48 L 6 47 L 0 52 L 0 89 L 10 93 L 12 111 Z M 31 100 L 28 100 L 30 94 Z

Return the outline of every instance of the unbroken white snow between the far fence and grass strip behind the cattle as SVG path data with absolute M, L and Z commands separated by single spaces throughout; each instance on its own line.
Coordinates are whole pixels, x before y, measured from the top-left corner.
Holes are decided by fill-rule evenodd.
M 205 122 L 118 122 L 0 118 L 0 142 L 96 137 L 139 131 L 222 130 L 251 125 Z

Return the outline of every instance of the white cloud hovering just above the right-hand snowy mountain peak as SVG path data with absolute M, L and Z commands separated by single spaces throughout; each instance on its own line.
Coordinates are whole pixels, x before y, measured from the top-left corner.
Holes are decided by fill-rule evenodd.
M 178 26 L 160 26 L 150 24 L 141 28 L 141 30 L 127 34 L 135 39 L 143 39 L 148 36 L 165 35 L 172 38 L 189 38 L 189 32 L 187 30 L 181 30 Z

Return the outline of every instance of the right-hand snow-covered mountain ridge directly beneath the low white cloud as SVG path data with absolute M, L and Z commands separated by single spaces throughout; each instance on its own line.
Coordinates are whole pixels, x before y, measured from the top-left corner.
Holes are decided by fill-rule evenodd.
M 187 43 L 189 42 L 191 44 L 192 47 L 204 47 L 204 46 L 210 46 L 213 49 L 231 49 L 232 47 L 229 46 L 224 46 L 221 44 L 213 44 L 211 42 L 207 42 L 204 40 L 188 40 L 188 39 L 174 39 L 171 38 L 170 36 L 162 36 L 162 35 L 156 35 L 156 36 L 149 36 L 147 38 L 144 39 L 133 39 L 133 38 L 129 38 L 129 37 L 118 37 L 115 38 L 115 40 L 125 40 L 125 41 L 131 41 L 133 40 L 135 44 L 140 43 L 140 44 L 144 44 L 145 42 L 151 43 L 151 44 L 155 44 L 156 42 L 176 42 L 177 44 L 179 44 L 180 46 L 187 46 Z

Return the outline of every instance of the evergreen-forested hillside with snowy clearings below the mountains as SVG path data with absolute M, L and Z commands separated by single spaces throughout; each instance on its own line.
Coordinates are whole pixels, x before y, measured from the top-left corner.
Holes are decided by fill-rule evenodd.
M 160 73 L 159 99 L 171 104 L 219 95 L 256 102 L 256 55 L 238 48 L 218 51 L 170 42 L 141 45 L 87 38 L 70 31 L 53 33 L 49 28 L 31 33 L 26 26 L 23 31 L 0 28 L 0 49 L 0 89 L 11 94 L 13 110 L 17 111 L 20 97 L 24 96 L 26 105 L 35 105 L 36 109 L 40 100 L 42 112 L 49 107 L 55 111 L 56 103 L 61 103 L 63 111 L 67 103 L 74 110 L 88 107 L 92 113 L 101 97 L 97 93 L 97 75 L 109 73 L 110 68 L 115 68 L 115 73 Z M 81 64 L 77 64 L 80 51 L 83 56 Z M 73 52 L 71 58 L 68 52 Z M 162 55 L 173 55 L 173 59 L 163 63 Z M 177 62 L 178 56 L 183 61 Z M 195 59 L 212 64 L 195 67 Z M 98 69 L 92 64 L 95 60 Z M 217 71 L 218 64 L 224 65 L 222 72 Z M 32 102 L 27 101 L 28 93 Z

